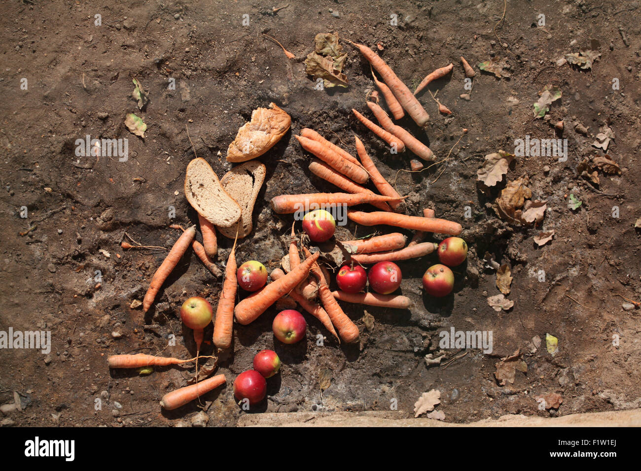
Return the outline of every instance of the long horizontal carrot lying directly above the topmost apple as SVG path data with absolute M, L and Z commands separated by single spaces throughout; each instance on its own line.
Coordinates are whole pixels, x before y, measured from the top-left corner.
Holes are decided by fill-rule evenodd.
M 274 213 L 288 214 L 296 213 L 306 208 L 324 204 L 346 204 L 347 206 L 356 206 L 366 202 L 392 201 L 394 197 L 377 195 L 375 193 L 308 193 L 301 195 L 279 195 L 272 198 L 271 206 Z

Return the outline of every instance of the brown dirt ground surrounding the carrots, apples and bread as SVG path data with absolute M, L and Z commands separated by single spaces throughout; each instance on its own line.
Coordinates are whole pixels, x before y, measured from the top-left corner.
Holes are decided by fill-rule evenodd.
M 274 6 L 287 8 L 273 12 Z M 138 376 L 110 371 L 106 357 L 161 351 L 193 356 L 179 306 L 190 295 L 215 304 L 221 279 L 188 254 L 145 317 L 130 305 L 142 300 L 166 252 L 124 251 L 120 244 L 127 233 L 144 245 L 171 247 L 178 234 L 169 224 L 197 222 L 183 194 L 185 168 L 194 157 L 186 126 L 197 155 L 221 177 L 231 168 L 224 155 L 238 127 L 271 101 L 291 115 L 292 128 L 260 158 L 267 179 L 254 231 L 239 241 L 239 262 L 259 260 L 271 270 L 285 254 L 281 236 L 292 217 L 274 215 L 272 197 L 337 191 L 310 176 L 309 156 L 293 137 L 305 127 L 352 152 L 353 133 L 359 135 L 383 176 L 396 179 L 399 192 L 409 195 L 408 214 L 434 208 L 438 217 L 460 222 L 470 252 L 467 264 L 455 269 L 454 294 L 445 299 L 422 292 L 421 276 L 436 263 L 432 255 L 399 263 L 411 310 L 367 308 L 374 318 L 367 328 L 363 308 L 344 304 L 362 332 L 356 345 L 338 345 L 312 317 L 306 342 L 282 345 L 271 332 L 275 308 L 249 326 L 237 325 L 233 354 L 219 365 L 227 386 L 204 398 L 209 426 L 233 426 L 247 414 L 231 386 L 261 349 L 275 349 L 283 367 L 269 380 L 267 401 L 249 413 L 385 411 L 396 403 L 401 417 L 410 418 L 421 393 L 433 388 L 441 392 L 437 409 L 457 423 L 641 406 L 639 311 L 624 310 L 627 301 L 615 295 L 641 299 L 640 235 L 634 227 L 641 217 L 635 163 L 641 148 L 639 3 L 509 0 L 506 7 L 501 22 L 501 0 L 4 3 L 0 331 L 51 331 L 51 352 L 0 349 L 0 404 L 13 402 L 17 392 L 23 408 L 0 417 L 3 424 L 177 426 L 196 417 L 196 403 L 171 412 L 158 404 L 163 394 L 187 384 L 193 366 Z M 541 13 L 545 26 L 537 24 Z M 244 15 L 248 26 L 242 25 Z M 440 160 L 451 151 L 449 160 L 420 173 L 398 172 L 409 169 L 410 157 L 390 154 L 351 113 L 365 113 L 374 86 L 369 65 L 348 43 L 349 88 L 314 89 L 303 61 L 315 35 L 332 31 L 376 49 L 410 88 L 431 70 L 454 63 L 451 76 L 429 85 L 453 114 L 440 115 L 425 93 L 419 99 L 431 115 L 426 130 L 408 117 L 399 123 Z M 287 60 L 261 33 L 277 38 L 296 58 Z M 592 40 L 601 53 L 592 69 L 556 65 Z M 477 71 L 471 91 L 464 88 L 461 55 Z M 493 57 L 508 60 L 509 78 L 479 73 L 478 63 Z M 130 76 L 149 92 L 142 112 L 131 99 Z M 613 90 L 613 78 L 619 90 Z M 168 88 L 170 79 L 175 90 Z M 551 106 L 550 122 L 533 119 L 533 103 L 548 84 L 560 87 L 562 98 Z M 460 98 L 466 93 L 469 101 Z M 147 124 L 144 139 L 124 126 L 133 112 Z M 554 138 L 551 124 L 562 119 L 567 161 L 520 156 L 506 177 L 529 176 L 532 199 L 547 201 L 543 222 L 513 226 L 499 219 L 492 203 L 505 179 L 490 194 L 479 191 L 476 171 L 483 157 L 499 149 L 513 153 L 514 140 L 526 135 Z M 577 122 L 587 135 L 575 130 Z M 615 133 L 607 153 L 621 174 L 600 173 L 595 186 L 577 166 L 603 155 L 592 143 L 604 123 Z M 469 132 L 455 145 L 462 128 Z M 85 135 L 128 138 L 128 160 L 76 157 L 74 143 Z M 582 201 L 574 211 L 567 205 L 570 193 Z M 551 229 L 553 240 L 538 247 L 533 236 Z M 348 231 L 362 237 L 373 228 L 350 222 L 338 238 Z M 219 244 L 222 268 L 232 244 L 222 236 Z M 511 310 L 488 305 L 487 297 L 499 290 L 494 269 L 483 260 L 486 252 L 512 267 Z M 493 352 L 451 349 L 441 365 L 428 367 L 424 356 L 439 350 L 439 332 L 451 327 L 492 331 Z M 315 342 L 318 333 L 327 336 L 322 346 Z M 554 356 L 545 349 L 546 333 L 558 338 Z M 176 345 L 168 346 L 172 334 Z M 535 336 L 543 339 L 536 349 Z M 517 371 L 513 384 L 501 386 L 495 364 L 517 349 L 524 352 L 527 372 Z M 207 345 L 204 354 L 211 351 Z M 331 386 L 321 396 L 319 374 L 325 369 L 332 371 Z M 547 393 L 562 395 L 560 408 L 539 410 L 536 397 Z

